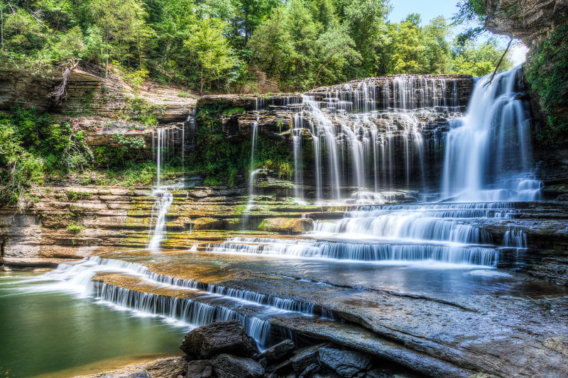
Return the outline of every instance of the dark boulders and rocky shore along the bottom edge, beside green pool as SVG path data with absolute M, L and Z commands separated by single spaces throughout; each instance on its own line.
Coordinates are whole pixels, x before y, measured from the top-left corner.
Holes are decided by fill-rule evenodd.
M 293 340 L 283 340 L 261 352 L 241 323 L 219 321 L 187 333 L 180 345 L 183 357 L 76 378 L 420 377 L 356 350 L 306 341 L 297 347 Z

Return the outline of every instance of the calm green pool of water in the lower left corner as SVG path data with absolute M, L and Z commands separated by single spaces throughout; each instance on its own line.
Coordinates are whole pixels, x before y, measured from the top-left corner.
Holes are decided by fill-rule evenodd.
M 0 272 L 0 376 L 72 377 L 178 353 L 189 328 Z

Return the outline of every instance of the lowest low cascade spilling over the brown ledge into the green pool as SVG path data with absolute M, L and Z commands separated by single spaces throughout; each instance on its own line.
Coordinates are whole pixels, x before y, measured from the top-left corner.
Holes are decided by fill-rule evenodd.
M 145 293 L 116 287 L 112 283 L 93 281 L 97 274 L 121 274 L 124 277 L 132 277 L 146 285 L 160 288 L 160 292 L 170 291 L 172 295 Z M 135 262 L 100 257 L 85 257 L 81 262 L 73 265 L 60 264 L 53 272 L 38 279 L 56 282 L 43 284 L 48 290 L 71 291 L 82 297 L 94 297 L 119 308 L 160 316 L 168 321 L 181 321 L 185 326 L 203 326 L 213 321 L 236 319 L 243 323 L 245 332 L 261 347 L 277 341 L 274 340 L 277 334 L 268 321 L 271 316 L 293 313 L 297 316 L 316 316 L 328 321 L 334 318 L 332 311 L 314 304 L 254 291 L 177 279 L 152 272 L 145 265 Z M 290 338 L 290 335 L 280 336 Z

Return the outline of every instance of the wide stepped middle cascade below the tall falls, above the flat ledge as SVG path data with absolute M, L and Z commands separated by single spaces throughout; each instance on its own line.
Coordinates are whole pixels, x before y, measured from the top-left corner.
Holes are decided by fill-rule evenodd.
M 301 239 L 229 238 L 210 252 L 295 256 L 399 264 L 425 261 L 495 267 L 500 246 L 478 226 L 485 218 L 508 218 L 510 202 L 360 206 L 339 221 L 315 221 Z M 518 245 L 520 236 L 508 231 Z

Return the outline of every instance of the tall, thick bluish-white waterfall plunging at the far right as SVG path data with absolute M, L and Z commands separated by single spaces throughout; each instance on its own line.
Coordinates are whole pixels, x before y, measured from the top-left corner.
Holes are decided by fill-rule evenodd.
M 453 201 L 534 201 L 530 116 L 519 99 L 520 67 L 482 77 L 466 116 L 446 137 L 443 196 Z

